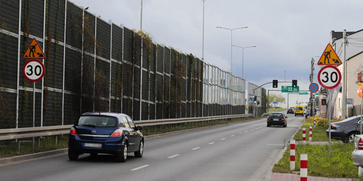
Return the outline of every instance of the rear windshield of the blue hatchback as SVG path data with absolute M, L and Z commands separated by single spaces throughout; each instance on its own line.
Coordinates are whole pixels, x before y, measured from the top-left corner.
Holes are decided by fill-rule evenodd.
M 110 116 L 81 116 L 76 125 L 86 127 L 117 127 L 117 119 Z

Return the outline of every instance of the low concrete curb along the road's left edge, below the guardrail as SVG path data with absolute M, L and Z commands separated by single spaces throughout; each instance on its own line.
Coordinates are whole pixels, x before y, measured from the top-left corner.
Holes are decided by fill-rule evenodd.
M 187 132 L 191 132 L 191 131 L 211 129 L 211 128 L 216 128 L 216 127 L 237 124 L 237 123 L 241 123 L 241 122 L 254 121 L 257 119 L 261 119 L 261 118 L 255 118 L 255 119 L 237 121 L 237 122 L 232 122 L 232 123 L 227 123 L 227 124 L 197 127 L 197 128 L 193 128 L 193 129 L 184 129 L 184 130 L 173 131 L 173 132 L 169 132 L 169 133 L 161 133 L 161 134 L 156 134 L 156 135 L 144 136 L 144 139 L 153 139 L 153 138 L 165 137 L 165 136 L 176 135 L 176 134 L 181 134 L 181 133 L 187 133 Z M 31 153 L 31 154 L 24 154 L 24 155 L 18 155 L 18 156 L 13 156 L 13 157 L 0 158 L 0 166 L 9 164 L 9 163 L 14 163 L 14 162 L 20 162 L 20 161 L 26 161 L 26 160 L 31 160 L 31 159 L 35 159 L 35 158 L 52 156 L 52 155 L 56 155 L 56 154 L 64 154 L 67 152 L 68 152 L 68 148 L 63 148 L 63 149 L 52 150 L 52 151 L 47 151 L 47 152 Z

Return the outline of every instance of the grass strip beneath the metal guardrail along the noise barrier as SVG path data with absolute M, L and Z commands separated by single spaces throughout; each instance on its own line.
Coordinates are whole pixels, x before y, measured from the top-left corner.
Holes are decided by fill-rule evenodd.
M 236 118 L 232 120 L 219 120 L 219 121 L 206 121 L 201 123 L 185 123 L 185 124 L 170 124 L 170 125 L 157 125 L 157 126 L 144 126 L 144 129 L 142 130 L 142 133 L 144 136 L 148 135 L 155 135 L 155 134 L 161 134 L 161 133 L 167 133 L 167 132 L 174 132 L 174 131 L 180 131 L 185 129 L 193 129 L 197 127 L 206 127 L 211 125 L 221 125 L 221 124 L 227 124 L 227 123 L 233 123 L 233 122 L 240 122 L 240 121 L 246 121 L 251 119 L 257 119 L 260 118 L 260 116 L 257 116 L 256 118 Z M 136 122 L 137 125 L 137 122 Z M 42 138 L 40 141 L 40 147 L 38 148 L 38 139 L 36 138 L 33 143 L 30 139 L 21 141 L 20 144 L 20 151 L 17 152 L 17 143 L 15 142 L 15 139 L 13 140 L 6 140 L 6 141 L 0 141 L 0 158 L 5 157 L 12 157 L 17 155 L 23 155 L 23 154 L 30 154 L 30 153 L 39 153 L 39 152 L 46 152 L 51 150 L 57 150 L 62 148 L 68 148 L 68 135 L 64 135 L 63 137 L 58 136 L 57 138 L 57 145 L 55 145 L 54 136 L 49 136 Z

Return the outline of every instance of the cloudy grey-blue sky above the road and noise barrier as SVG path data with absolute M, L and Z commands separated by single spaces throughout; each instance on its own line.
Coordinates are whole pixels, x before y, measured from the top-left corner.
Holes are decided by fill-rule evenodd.
M 140 0 L 73 0 L 108 22 L 140 29 Z M 204 60 L 230 70 L 232 44 L 244 49 L 243 78 L 260 85 L 298 80 L 308 90 L 311 58 L 320 56 L 330 32 L 363 28 L 363 0 L 205 0 Z M 202 0 L 143 0 L 142 30 L 153 41 L 202 58 Z M 314 57 L 317 62 L 319 57 Z M 232 72 L 242 77 L 242 49 L 232 49 Z M 317 81 L 319 68 L 314 71 Z M 291 83 L 280 83 L 291 85 Z M 272 90 L 272 84 L 264 86 Z M 273 91 L 274 94 L 277 91 Z M 287 94 L 282 94 L 287 97 Z M 308 96 L 299 101 L 308 101 Z M 297 95 L 289 96 L 289 104 Z M 289 107 L 290 107 L 289 105 Z

